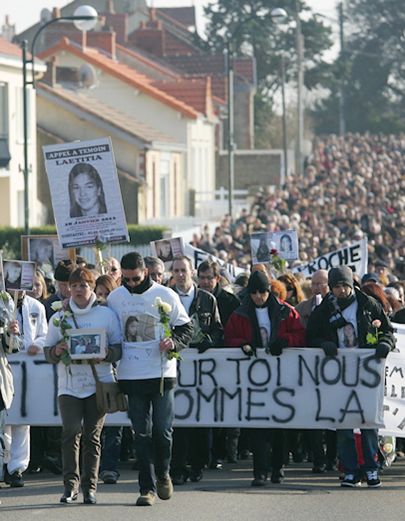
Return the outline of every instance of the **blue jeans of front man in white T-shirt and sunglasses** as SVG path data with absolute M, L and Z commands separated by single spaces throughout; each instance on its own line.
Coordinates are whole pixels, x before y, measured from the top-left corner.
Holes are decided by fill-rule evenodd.
M 129 394 L 129 417 L 135 431 L 134 446 L 139 462 L 141 494 L 156 493 L 156 477 L 163 479 L 170 470 L 174 389 L 164 395 Z

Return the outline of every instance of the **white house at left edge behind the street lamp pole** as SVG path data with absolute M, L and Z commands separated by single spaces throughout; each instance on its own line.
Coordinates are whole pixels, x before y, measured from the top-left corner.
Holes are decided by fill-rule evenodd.
M 46 67 L 38 61 L 35 72 Z M 30 226 L 42 224 L 36 196 L 35 93 L 27 87 Z M 24 130 L 21 49 L 0 36 L 0 226 L 24 226 Z

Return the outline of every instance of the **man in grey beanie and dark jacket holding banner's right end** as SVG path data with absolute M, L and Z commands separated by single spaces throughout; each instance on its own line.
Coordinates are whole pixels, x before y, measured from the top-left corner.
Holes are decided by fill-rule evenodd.
M 356 348 L 375 346 L 375 356 L 385 358 L 395 347 L 394 328 L 377 301 L 354 288 L 353 272 L 347 266 L 330 269 L 328 274 L 330 292 L 320 306 L 317 306 L 306 329 L 307 344 L 321 347 L 326 356 L 336 356 L 339 348 L 347 348 L 345 330 L 354 328 Z M 351 429 L 337 431 L 338 454 L 345 472 L 342 487 L 358 487 L 364 472 L 367 486 L 378 488 L 378 430 L 362 429 L 362 450 L 364 469 L 358 465 L 354 434 Z

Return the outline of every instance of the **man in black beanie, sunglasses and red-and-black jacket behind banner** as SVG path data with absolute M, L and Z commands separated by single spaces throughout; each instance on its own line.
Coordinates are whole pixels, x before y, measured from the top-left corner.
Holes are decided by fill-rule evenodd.
M 280 356 L 284 348 L 305 345 L 300 316 L 289 304 L 276 299 L 263 271 L 255 271 L 250 276 L 247 289 L 249 294 L 225 326 L 226 346 L 240 347 L 247 356 L 255 355 L 260 348 L 268 348 L 272 355 Z M 283 481 L 285 438 L 284 429 L 251 430 L 252 487 L 266 484 L 268 441 L 272 446 L 271 481 Z

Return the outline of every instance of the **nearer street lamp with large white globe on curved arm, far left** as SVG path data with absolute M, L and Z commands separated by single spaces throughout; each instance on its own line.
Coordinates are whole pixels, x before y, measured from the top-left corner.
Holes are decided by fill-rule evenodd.
M 35 89 L 35 71 L 34 71 L 34 50 L 35 50 L 35 42 L 38 39 L 40 33 L 50 25 L 51 23 L 58 22 L 59 20 L 71 20 L 75 24 L 76 29 L 80 31 L 91 31 L 96 26 L 98 14 L 94 7 L 89 5 L 82 5 L 78 7 L 72 16 L 60 16 L 59 18 L 52 18 L 43 24 L 43 26 L 36 32 L 31 45 L 31 59 L 28 59 L 28 41 L 23 40 L 21 42 L 22 48 L 22 81 L 23 81 L 23 91 L 22 91 L 22 100 L 23 100 L 23 127 L 24 127 L 24 228 L 25 234 L 29 235 L 30 233 L 30 225 L 29 225 L 29 194 L 28 194 L 28 92 L 27 85 L 32 85 L 32 88 Z M 27 81 L 27 65 L 31 64 L 31 81 Z M 21 171 L 21 169 L 20 169 Z

